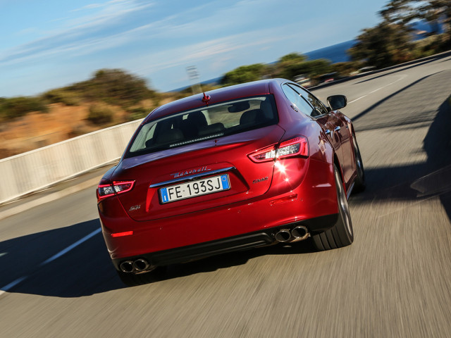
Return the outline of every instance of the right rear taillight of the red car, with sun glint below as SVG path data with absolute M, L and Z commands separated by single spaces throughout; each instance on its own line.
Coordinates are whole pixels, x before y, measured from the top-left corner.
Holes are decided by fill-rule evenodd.
M 248 155 L 254 162 L 274 161 L 280 158 L 292 156 L 309 156 L 309 142 L 307 137 L 299 136 L 294 139 L 289 139 L 274 146 L 268 146 L 259 151 L 255 151 Z

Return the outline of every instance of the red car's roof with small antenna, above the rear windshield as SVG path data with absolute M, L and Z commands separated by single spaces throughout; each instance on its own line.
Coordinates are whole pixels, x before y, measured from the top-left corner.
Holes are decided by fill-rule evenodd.
M 216 104 L 218 102 L 239 99 L 240 97 L 256 96 L 271 94 L 271 84 L 277 84 L 281 81 L 287 81 L 283 79 L 267 79 L 259 80 L 254 82 L 247 82 L 243 84 L 235 84 L 230 87 L 223 87 L 219 89 L 214 89 L 205 92 L 206 96 L 210 96 L 208 104 Z M 191 109 L 206 106 L 202 99 L 204 98 L 204 93 L 195 94 L 192 96 L 185 97 L 184 99 L 179 99 L 168 104 L 164 104 L 156 108 L 152 113 L 150 113 L 144 120 L 147 123 L 149 120 L 154 120 L 156 118 L 161 118 L 166 115 L 171 115 L 173 113 L 178 113 L 180 111 L 188 111 Z

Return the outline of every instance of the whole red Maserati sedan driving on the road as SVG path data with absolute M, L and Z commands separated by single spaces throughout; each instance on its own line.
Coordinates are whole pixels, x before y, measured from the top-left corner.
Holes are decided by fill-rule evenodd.
M 280 242 L 351 244 L 347 199 L 364 189 L 364 168 L 338 111 L 346 97 L 327 101 L 270 79 L 149 113 L 97 189 L 121 280 L 140 284 L 159 266 Z

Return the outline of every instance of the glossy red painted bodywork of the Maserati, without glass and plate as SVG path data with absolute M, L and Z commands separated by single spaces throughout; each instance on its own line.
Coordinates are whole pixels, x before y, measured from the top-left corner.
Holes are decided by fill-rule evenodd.
M 261 245 L 249 239 L 254 234 L 261 233 L 265 244 L 275 243 L 278 230 L 296 224 L 305 225 L 312 235 L 333 226 L 339 209 L 334 163 L 348 196 L 357 177 L 352 123 L 339 111 L 317 118 L 305 115 L 284 94 L 284 84 L 296 85 L 273 79 L 216 89 L 156 108 L 144 119 L 121 161 L 104 175 L 97 190 L 102 232 L 118 271 L 122 262 L 137 258 L 147 260 L 149 269 L 144 270 L 151 270 L 202 253 Z M 275 104 L 276 123 L 199 142 L 175 142 L 173 148 L 149 153 L 145 149 L 137 155 L 131 152 L 140 130 L 152 121 L 253 96 L 273 98 L 266 100 Z M 183 123 L 181 117 L 180 121 Z M 336 127 L 340 132 L 326 134 Z M 176 129 L 174 125 L 172 129 Z M 262 149 L 283 147 L 283 142 L 291 144 L 297 139 L 307 146 L 305 153 L 265 161 L 252 158 L 268 152 Z M 208 178 L 216 170 L 226 170 L 230 189 L 162 203 L 161 187 L 188 182 L 184 179 L 190 177 L 195 182 L 197 175 Z M 130 184 L 126 186 L 126 192 L 113 190 L 101 196 L 107 193 L 102 190 L 105 187 L 119 189 L 113 182 L 133 184 L 131 189 Z M 242 246 L 241 238 L 246 238 Z M 230 248 L 228 239 L 235 241 Z M 205 251 L 204 246 L 208 248 Z

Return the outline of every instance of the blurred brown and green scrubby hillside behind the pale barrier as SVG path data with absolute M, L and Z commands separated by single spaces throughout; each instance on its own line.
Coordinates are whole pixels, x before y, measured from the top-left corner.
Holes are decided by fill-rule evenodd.
M 0 98 L 0 158 L 137 120 L 171 99 L 118 69 L 39 96 Z

